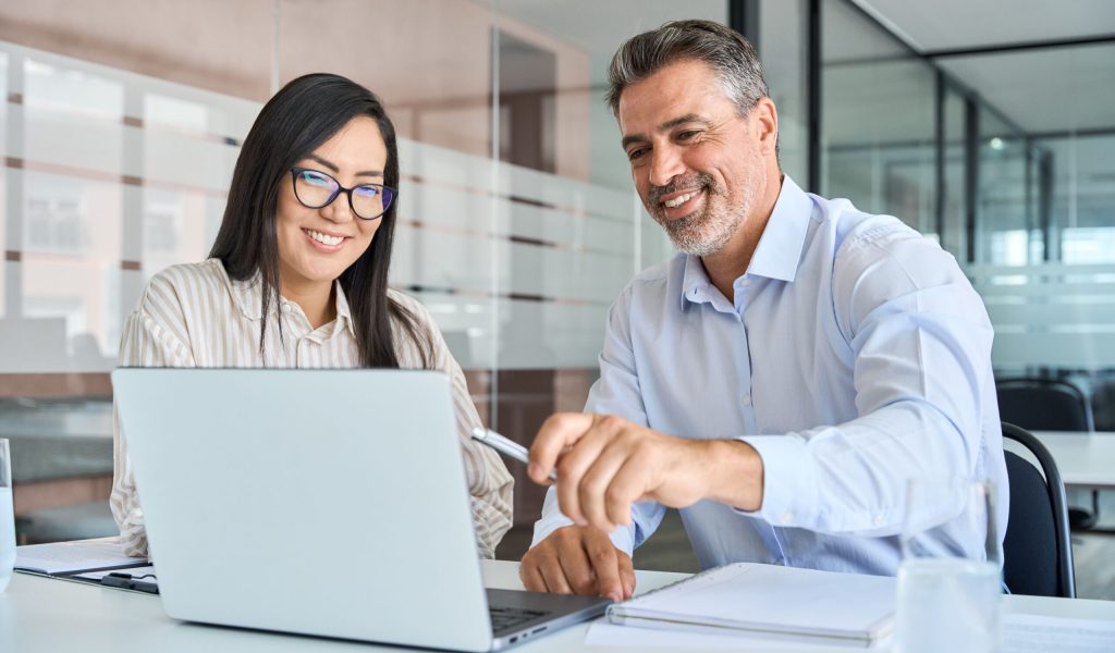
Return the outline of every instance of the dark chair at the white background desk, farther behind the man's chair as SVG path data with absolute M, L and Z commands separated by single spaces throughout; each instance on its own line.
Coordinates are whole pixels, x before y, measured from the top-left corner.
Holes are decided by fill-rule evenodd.
M 1059 379 L 998 379 L 999 419 L 1031 431 L 1095 430 L 1092 403 L 1079 388 Z M 1092 510 L 1070 507 L 1073 528 L 1092 528 L 1099 520 L 1099 490 L 1092 490 Z

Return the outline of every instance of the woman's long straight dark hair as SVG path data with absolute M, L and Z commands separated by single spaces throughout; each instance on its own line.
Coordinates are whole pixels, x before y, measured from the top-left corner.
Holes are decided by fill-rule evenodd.
M 220 259 L 229 276 L 246 281 L 260 274 L 263 283 L 263 320 L 260 353 L 272 306 L 279 304 L 279 242 L 275 213 L 279 185 L 290 183 L 290 169 L 332 138 L 352 118 L 367 116 L 379 126 L 387 146 L 384 185 L 399 187 L 399 156 L 395 126 L 379 98 L 339 75 L 304 75 L 292 80 L 263 105 L 236 159 L 224 208 L 221 231 L 210 252 Z M 341 197 L 340 201 L 345 198 Z M 397 368 L 391 337 L 395 320 L 421 353 L 423 367 L 432 366 L 429 339 L 420 333 L 417 319 L 387 296 L 387 271 L 398 201 L 391 203 L 368 250 L 341 273 L 348 298 L 360 360 L 369 368 Z M 358 220 L 353 216 L 353 220 Z M 282 322 L 279 322 L 282 338 Z

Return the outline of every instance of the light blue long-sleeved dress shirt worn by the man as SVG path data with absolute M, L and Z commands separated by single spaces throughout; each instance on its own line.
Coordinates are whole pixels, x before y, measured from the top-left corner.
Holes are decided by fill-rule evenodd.
M 738 438 L 762 456 L 758 511 L 709 500 L 680 510 L 702 568 L 746 561 L 893 575 L 911 477 L 993 481 L 1001 546 L 992 329 L 949 253 L 894 217 L 784 177 L 734 289 L 735 304 L 686 254 L 636 276 L 609 313 L 585 406 L 673 436 Z M 638 504 L 613 544 L 630 554 L 663 513 Z M 568 524 L 551 489 L 534 544 Z M 934 535 L 953 550 L 985 547 L 978 525 Z

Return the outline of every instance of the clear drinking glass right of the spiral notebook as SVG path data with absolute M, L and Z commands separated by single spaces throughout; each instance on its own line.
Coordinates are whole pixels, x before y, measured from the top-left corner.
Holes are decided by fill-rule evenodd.
M 901 543 L 894 651 L 999 651 L 1002 583 L 993 486 L 911 479 Z

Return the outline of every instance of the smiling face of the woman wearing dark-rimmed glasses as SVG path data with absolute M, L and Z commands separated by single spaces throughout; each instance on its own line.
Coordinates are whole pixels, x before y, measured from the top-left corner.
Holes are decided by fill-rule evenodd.
M 310 170 L 311 178 L 322 179 L 314 173 L 324 173 L 346 188 L 382 184 L 387 146 L 376 121 L 360 116 L 297 166 Z M 308 208 L 295 196 L 291 175 L 285 175 L 275 216 L 280 292 L 289 299 L 330 292 L 333 281 L 371 245 L 382 220 L 358 217 L 343 192 L 321 208 Z

